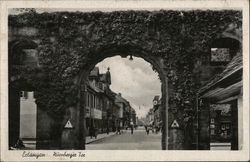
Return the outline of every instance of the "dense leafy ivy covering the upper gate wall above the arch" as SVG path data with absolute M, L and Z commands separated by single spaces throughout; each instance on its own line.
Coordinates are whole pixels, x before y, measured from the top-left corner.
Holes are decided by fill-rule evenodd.
M 31 69 L 11 66 L 19 78 L 10 86 L 29 85 L 37 89 L 37 103 L 52 114 L 63 113 L 79 98 L 74 79 L 95 59 L 110 49 L 144 51 L 162 57 L 170 84 L 171 101 L 179 109 L 192 110 L 200 82 L 195 79 L 195 62 L 210 52 L 210 44 L 229 24 L 241 26 L 240 11 L 115 11 L 32 12 L 10 15 L 9 27 L 39 30 L 39 65 Z M 31 38 L 34 39 L 34 38 Z M 106 52 L 107 53 L 107 52 Z M 105 55 L 112 55 L 106 54 Z M 143 57 L 143 54 L 142 54 Z

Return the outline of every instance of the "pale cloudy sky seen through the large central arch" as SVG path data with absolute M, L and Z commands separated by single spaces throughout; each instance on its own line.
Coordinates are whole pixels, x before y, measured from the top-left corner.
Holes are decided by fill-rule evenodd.
M 142 58 L 128 58 L 114 56 L 103 60 L 96 66 L 100 73 L 105 73 L 110 68 L 110 88 L 130 102 L 139 118 L 145 117 L 153 107 L 153 98 L 161 96 L 161 82 L 158 73 L 154 72 L 150 63 Z

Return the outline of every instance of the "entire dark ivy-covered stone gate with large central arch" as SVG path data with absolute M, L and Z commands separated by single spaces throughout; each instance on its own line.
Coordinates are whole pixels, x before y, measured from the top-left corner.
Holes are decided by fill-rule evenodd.
M 241 50 L 241 23 L 241 11 L 232 10 L 10 15 L 10 145 L 18 138 L 19 92 L 32 90 L 38 106 L 37 149 L 85 149 L 81 85 L 98 62 L 133 55 L 151 63 L 162 82 L 162 149 L 207 149 L 202 147 L 207 138 L 200 136 L 207 125 L 196 124 L 197 91 L 225 68 L 210 64 L 211 48 Z M 74 129 L 62 137 L 69 117 Z M 170 128 L 174 120 L 180 128 Z

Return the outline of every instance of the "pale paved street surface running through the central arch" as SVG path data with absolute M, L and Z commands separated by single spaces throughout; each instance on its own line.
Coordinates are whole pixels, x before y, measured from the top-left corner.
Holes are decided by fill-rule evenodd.
M 144 129 L 114 135 L 86 145 L 86 150 L 161 150 L 161 133 L 149 135 Z

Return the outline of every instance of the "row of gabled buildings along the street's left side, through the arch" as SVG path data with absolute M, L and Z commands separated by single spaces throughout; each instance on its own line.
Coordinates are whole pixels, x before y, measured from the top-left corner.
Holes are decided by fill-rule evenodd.
M 95 67 L 89 75 L 85 90 L 82 91 L 86 107 L 86 128 L 89 134 L 91 128 L 98 132 L 116 131 L 136 125 L 136 112 L 130 103 L 122 97 L 121 93 L 115 93 L 110 89 L 111 74 L 101 74 Z

